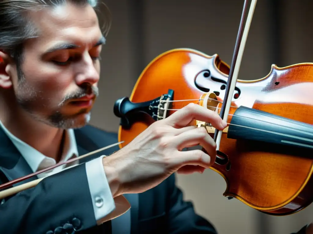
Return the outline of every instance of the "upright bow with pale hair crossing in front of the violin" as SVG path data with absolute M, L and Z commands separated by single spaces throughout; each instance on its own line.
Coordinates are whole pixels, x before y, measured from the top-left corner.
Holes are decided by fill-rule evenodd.
M 235 45 L 235 51 L 233 54 L 232 64 L 231 64 L 231 68 L 230 68 L 230 72 L 229 72 L 229 76 L 228 76 L 228 81 L 227 81 L 227 85 L 226 85 L 225 97 L 224 97 L 223 104 L 222 104 L 221 111 L 220 111 L 220 116 L 226 122 L 228 120 L 229 109 L 230 109 L 230 105 L 231 105 L 231 102 L 233 99 L 233 92 L 235 90 L 235 86 L 236 86 L 236 82 L 237 82 L 237 78 L 238 78 L 238 73 L 239 73 L 239 68 L 240 68 L 242 56 L 244 54 L 244 47 L 246 45 L 248 32 L 249 32 L 249 28 L 251 25 L 252 16 L 254 13 L 256 2 L 257 2 L 257 0 L 251 1 L 249 13 L 248 13 L 246 24 L 244 27 L 244 32 L 242 32 L 242 24 L 243 24 L 245 11 L 246 11 L 247 0 L 245 0 L 245 2 L 244 2 L 244 10 L 242 13 L 242 18 L 241 18 L 241 22 L 240 22 L 239 31 L 238 31 L 237 41 L 236 41 L 236 45 Z M 240 46 L 238 49 L 239 43 L 240 43 Z M 236 56 L 237 53 L 238 53 L 238 56 Z M 229 95 L 229 94 L 231 94 L 231 95 Z M 223 133 L 223 131 L 220 131 L 218 129 L 215 130 L 214 141 L 217 145 L 216 150 L 219 150 L 219 145 L 221 142 L 222 133 Z

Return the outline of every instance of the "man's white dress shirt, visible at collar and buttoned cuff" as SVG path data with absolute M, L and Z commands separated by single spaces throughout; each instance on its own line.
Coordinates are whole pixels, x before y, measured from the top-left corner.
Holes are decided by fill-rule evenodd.
M 3 125 L 1 121 L 0 126 L 7 134 L 8 138 L 11 139 L 23 158 L 25 158 L 26 162 L 33 172 L 56 164 L 54 158 L 45 156 L 38 150 L 34 149 L 32 146 L 15 137 L 12 133 L 8 131 L 8 129 Z M 77 150 L 74 130 L 68 129 L 66 130 L 64 149 L 60 162 L 67 161 L 70 158 L 78 156 L 79 154 Z M 93 202 L 95 220 L 98 224 L 116 218 L 130 209 L 130 204 L 125 197 L 119 196 L 113 199 L 110 186 L 103 168 L 103 157 L 105 157 L 105 155 L 85 163 L 90 196 Z M 47 172 L 38 174 L 38 178 L 43 178 L 54 173 L 58 173 L 64 168 L 78 165 L 78 163 L 78 160 L 76 160 L 72 163 L 61 165 Z

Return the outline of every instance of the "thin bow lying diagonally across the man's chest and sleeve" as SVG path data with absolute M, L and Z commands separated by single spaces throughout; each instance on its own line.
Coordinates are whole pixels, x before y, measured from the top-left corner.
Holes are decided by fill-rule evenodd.
M 109 149 L 109 148 L 111 148 L 111 147 L 113 147 L 113 146 L 115 146 L 115 145 L 121 144 L 121 143 L 123 143 L 123 142 L 124 142 L 124 141 L 117 142 L 117 143 L 114 143 L 114 144 L 110 144 L 110 145 L 105 146 L 105 147 L 103 147 L 103 148 L 100 148 L 100 149 L 97 149 L 97 150 L 95 150 L 95 151 L 89 152 L 89 153 L 87 153 L 87 154 L 81 155 L 81 156 L 79 156 L 79 157 L 77 157 L 77 158 L 72 158 L 72 159 L 69 159 L 69 160 L 67 160 L 67 161 L 65 161 L 65 162 L 57 163 L 57 164 L 55 164 L 55 165 L 53 165 L 53 166 L 51 166 L 51 167 L 45 168 L 45 169 L 40 170 L 40 171 L 38 171 L 38 172 L 29 174 L 29 175 L 24 176 L 24 177 L 21 177 L 21 178 L 17 178 L 17 179 L 12 180 L 12 181 L 10 181 L 10 182 L 8 182 L 8 183 L 2 184 L 2 185 L 0 186 L 0 189 L 1 189 L 1 188 L 7 188 L 7 187 L 9 187 L 9 186 L 11 186 L 11 185 L 13 185 L 13 184 L 15 184 L 15 183 L 21 182 L 21 181 L 23 181 L 23 180 L 26 180 L 26 179 L 28 179 L 28 178 L 31 178 L 31 177 L 33 177 L 33 176 L 35 176 L 35 175 L 40 174 L 40 173 L 49 171 L 49 170 L 51 170 L 51 169 L 53 169 L 53 168 L 56 168 L 56 167 L 59 167 L 59 166 L 61 166 L 61 165 L 74 162 L 74 161 L 76 161 L 76 160 L 79 160 L 79 159 L 88 157 L 88 156 L 90 156 L 90 155 L 92 155 L 92 154 L 96 154 L 96 153 L 98 153 L 98 152 L 100 152 L 100 151 L 102 151 L 102 150 Z M 78 166 L 78 165 L 74 165 L 74 166 Z M 71 166 L 71 167 L 74 167 L 74 166 Z M 68 167 L 68 168 L 65 168 L 65 169 L 69 169 L 69 168 L 71 168 L 71 167 Z M 62 172 L 62 171 L 61 171 L 61 172 Z M 46 177 L 44 177 L 44 178 L 47 178 L 47 177 L 49 177 L 49 176 L 46 176 Z M 8 189 L 6 189 L 6 190 L 3 190 L 3 191 L 0 192 L 0 199 L 3 199 L 3 198 L 8 197 L 8 196 L 11 196 L 11 195 L 13 195 L 13 194 L 15 194 L 15 193 L 19 193 L 19 192 L 21 192 L 21 191 L 23 191 L 23 190 L 25 190 L 25 189 L 32 188 L 32 187 L 36 186 L 36 185 L 37 185 L 41 180 L 43 180 L 44 178 L 36 179 L 36 180 L 30 181 L 30 182 L 28 182 L 28 183 L 18 185 L 18 186 L 13 187 L 13 188 L 8 188 Z

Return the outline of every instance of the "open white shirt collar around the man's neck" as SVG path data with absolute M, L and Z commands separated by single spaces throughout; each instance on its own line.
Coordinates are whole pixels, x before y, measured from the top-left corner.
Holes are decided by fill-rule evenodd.
M 3 125 L 1 121 L 0 127 L 3 129 L 5 134 L 7 134 L 8 138 L 13 142 L 13 144 L 21 153 L 21 155 L 26 160 L 26 162 L 28 163 L 33 172 L 56 164 L 54 158 L 45 156 L 44 154 L 40 153 L 37 149 L 34 149 L 32 146 L 23 142 L 22 140 L 14 136 L 12 133 L 10 133 L 9 130 Z M 75 157 L 79 155 L 73 129 L 66 130 L 64 149 L 65 150 L 67 149 L 67 153 L 64 152 L 60 162 L 69 160 L 73 156 L 73 154 L 75 155 Z

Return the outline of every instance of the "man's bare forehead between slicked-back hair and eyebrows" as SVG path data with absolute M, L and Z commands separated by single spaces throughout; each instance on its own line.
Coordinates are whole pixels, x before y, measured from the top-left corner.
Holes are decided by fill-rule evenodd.
M 88 4 L 77 6 L 66 3 L 57 7 L 47 7 L 30 14 L 39 37 L 34 39 L 39 47 L 53 46 L 57 42 L 90 44 L 102 36 L 98 17 Z

